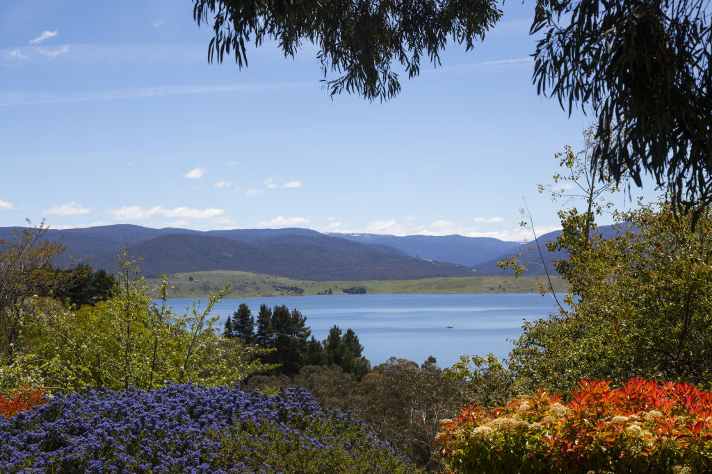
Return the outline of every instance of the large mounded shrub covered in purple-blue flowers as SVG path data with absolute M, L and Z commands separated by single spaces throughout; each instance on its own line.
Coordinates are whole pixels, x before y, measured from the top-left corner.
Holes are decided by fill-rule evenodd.
M 412 473 L 350 414 L 303 389 L 270 397 L 169 384 L 56 396 L 0 418 L 2 473 Z

